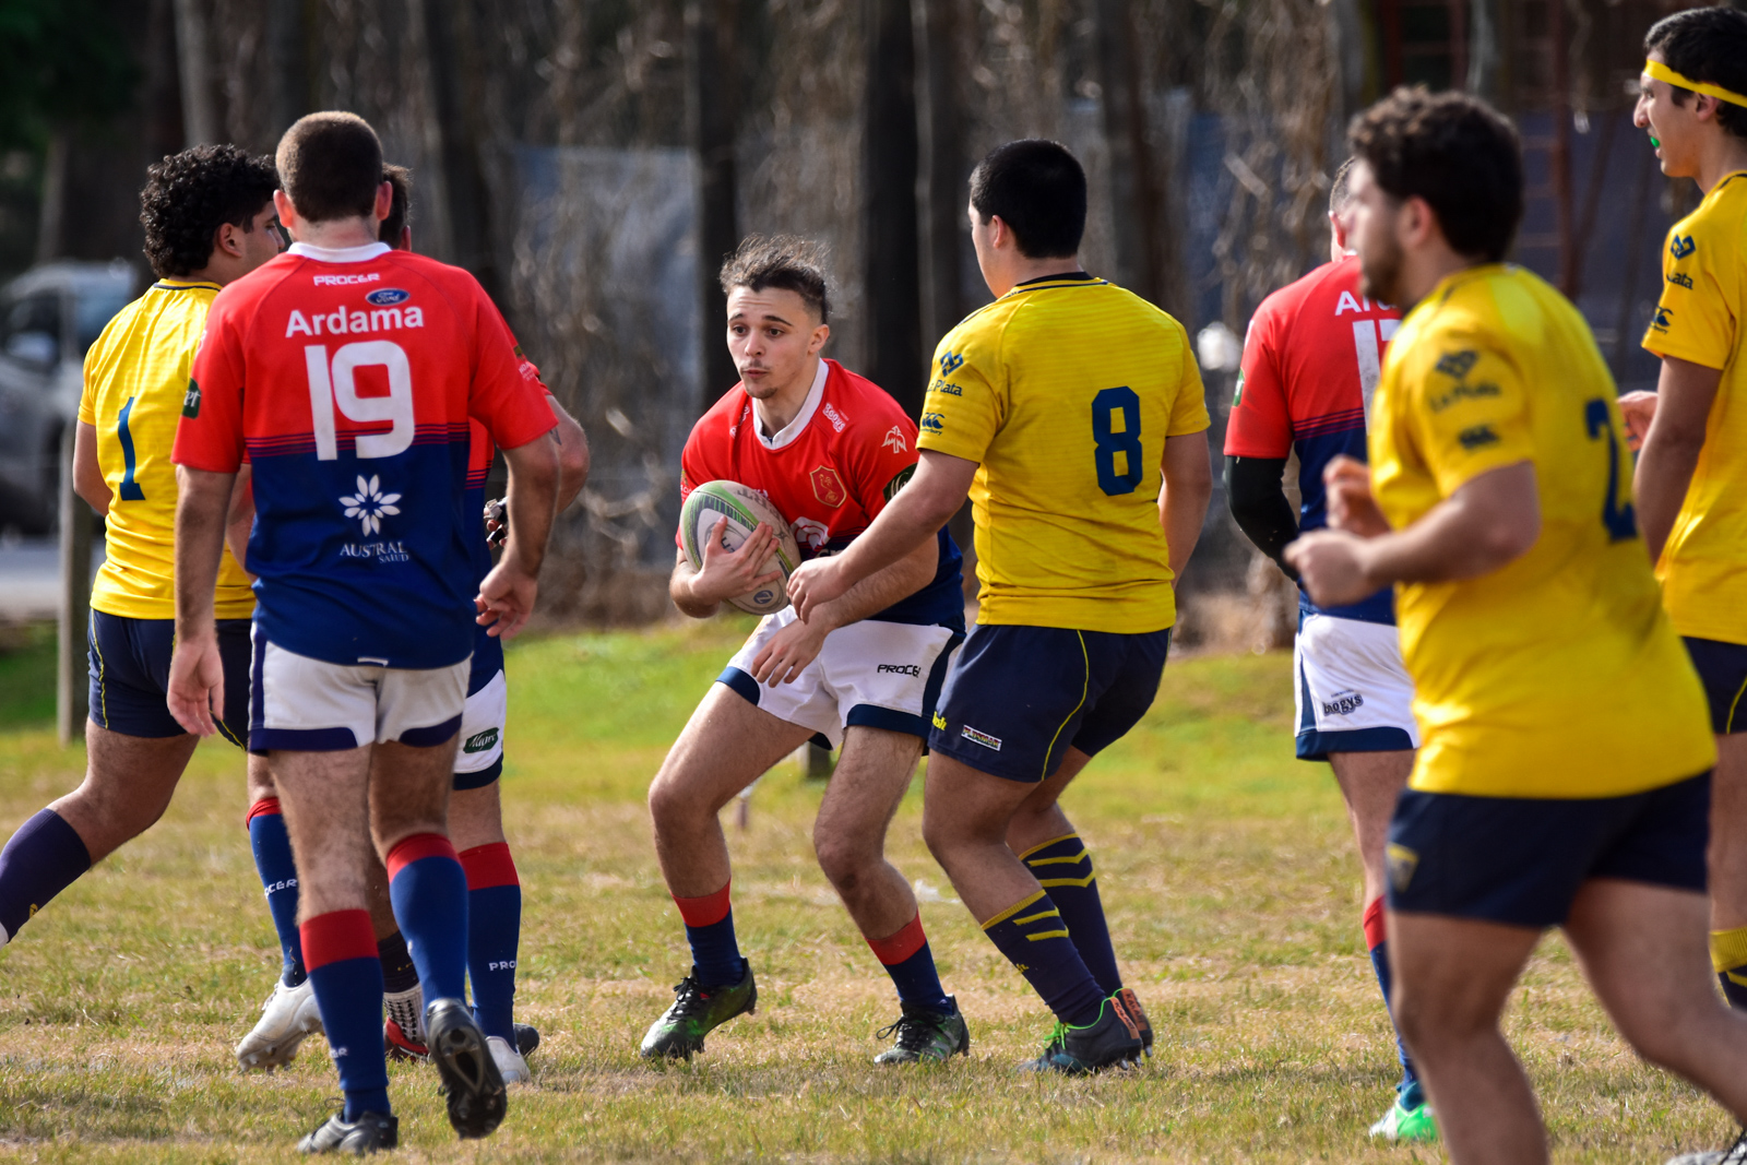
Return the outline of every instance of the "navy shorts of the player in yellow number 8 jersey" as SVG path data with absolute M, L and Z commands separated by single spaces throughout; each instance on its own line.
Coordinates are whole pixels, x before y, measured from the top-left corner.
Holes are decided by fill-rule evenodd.
M 947 676 L 928 748 L 1008 781 L 1045 781 L 1069 748 L 1092 756 L 1139 723 L 1169 650 L 1169 627 L 978 624 Z

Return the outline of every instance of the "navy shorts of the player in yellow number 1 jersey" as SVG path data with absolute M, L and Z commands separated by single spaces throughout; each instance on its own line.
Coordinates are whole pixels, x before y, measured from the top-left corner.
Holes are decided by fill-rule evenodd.
M 218 657 L 224 660 L 224 716 L 218 735 L 238 748 L 248 744 L 248 625 L 246 618 L 218 620 Z M 128 618 L 91 611 L 87 632 L 91 723 L 131 737 L 178 737 L 182 725 L 164 702 L 169 657 L 176 646 L 176 620 Z

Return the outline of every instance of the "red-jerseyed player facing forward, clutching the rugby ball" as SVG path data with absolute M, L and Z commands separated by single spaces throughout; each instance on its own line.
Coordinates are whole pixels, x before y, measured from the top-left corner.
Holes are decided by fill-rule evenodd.
M 722 267 L 728 351 L 741 383 L 692 430 L 680 491 L 734 480 L 788 519 L 802 557 L 835 554 L 915 472 L 915 424 L 879 386 L 819 353 L 830 337 L 821 262 L 795 238 L 749 238 Z M 678 555 L 669 592 L 694 618 L 776 582 L 776 533 L 728 552 L 718 522 L 702 569 Z M 758 1001 L 728 903 L 728 800 L 812 739 L 842 746 L 819 805 L 819 866 L 898 989 L 901 1015 L 880 1064 L 970 1048 L 935 973 L 915 896 L 886 861 L 886 828 L 922 755 L 947 662 L 964 639 L 959 550 L 945 529 L 811 620 L 767 617 L 692 714 L 650 784 L 655 851 L 685 919 L 692 971 L 643 1037 L 645 1057 L 701 1051 L 704 1036 Z

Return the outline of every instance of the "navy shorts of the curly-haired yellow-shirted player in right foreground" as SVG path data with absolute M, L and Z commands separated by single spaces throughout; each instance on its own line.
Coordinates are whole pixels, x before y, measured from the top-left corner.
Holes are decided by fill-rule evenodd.
M 1705 893 L 1710 774 L 1592 800 L 1406 789 L 1389 823 L 1389 908 L 1565 922 L 1590 879 Z

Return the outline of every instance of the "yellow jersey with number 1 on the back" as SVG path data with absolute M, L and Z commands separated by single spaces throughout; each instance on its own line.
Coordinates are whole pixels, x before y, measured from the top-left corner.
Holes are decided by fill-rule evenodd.
M 98 430 L 98 465 L 110 487 L 107 552 L 91 606 L 124 618 L 176 617 L 176 440 L 189 365 L 206 330 L 217 283 L 159 279 L 121 309 L 86 353 L 79 419 Z M 218 618 L 248 618 L 255 596 L 225 548 Z

